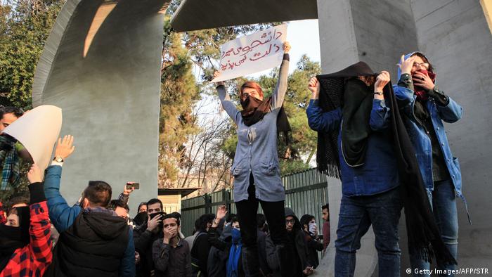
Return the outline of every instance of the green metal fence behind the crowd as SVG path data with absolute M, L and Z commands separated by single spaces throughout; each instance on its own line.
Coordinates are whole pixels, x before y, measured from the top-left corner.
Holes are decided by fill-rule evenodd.
M 321 206 L 328 202 L 328 183 L 326 176 L 316 168 L 288 174 L 282 177 L 285 188 L 285 206 L 292 208 L 300 219 L 303 214 L 312 214 L 318 223 L 318 233 L 322 234 L 323 219 Z M 226 205 L 229 213 L 235 214 L 233 192 L 229 189 L 216 191 L 181 202 L 181 232 L 191 236 L 195 220 L 202 214 L 215 213 L 219 205 Z M 259 206 L 261 213 L 261 205 Z

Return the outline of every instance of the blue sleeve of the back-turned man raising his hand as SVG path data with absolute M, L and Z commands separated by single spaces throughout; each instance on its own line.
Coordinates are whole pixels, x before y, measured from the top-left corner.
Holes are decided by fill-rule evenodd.
M 60 179 L 62 167 L 51 165 L 46 169 L 44 177 L 44 194 L 48 203 L 49 217 L 58 233 L 62 233 L 72 226 L 75 218 L 80 214 L 80 206 L 70 207 L 60 194 Z

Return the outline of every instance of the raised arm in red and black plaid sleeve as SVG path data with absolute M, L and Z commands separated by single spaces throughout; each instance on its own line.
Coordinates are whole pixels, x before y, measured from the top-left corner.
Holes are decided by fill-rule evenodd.
M 48 217 L 48 206 L 46 205 L 46 197 L 44 196 L 43 183 L 41 177 L 41 170 L 37 165 L 32 165 L 29 172 L 27 172 L 27 179 L 29 179 L 29 191 L 30 191 L 30 244 L 29 250 L 36 262 L 42 264 L 40 269 L 46 269 L 48 264 L 51 264 L 53 253 L 51 252 L 52 242 L 51 225 Z M 41 272 L 42 274 L 42 272 Z

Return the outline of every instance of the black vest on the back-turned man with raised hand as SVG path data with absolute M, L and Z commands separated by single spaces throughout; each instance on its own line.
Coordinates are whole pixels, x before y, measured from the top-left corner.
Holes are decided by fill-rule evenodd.
M 45 276 L 118 276 L 129 226 L 105 212 L 81 212 L 60 234 Z

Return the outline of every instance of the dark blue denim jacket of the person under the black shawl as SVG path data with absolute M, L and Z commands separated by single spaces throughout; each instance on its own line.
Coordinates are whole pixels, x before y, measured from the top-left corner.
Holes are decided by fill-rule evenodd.
M 309 127 L 318 132 L 330 132 L 342 127 L 342 110 L 323 112 L 318 100 L 311 100 L 306 110 Z M 338 135 L 338 156 L 342 172 L 342 193 L 347 196 L 375 195 L 399 185 L 398 167 L 394 155 L 389 125 L 389 108 L 384 100 L 373 101 L 369 125 L 373 132 L 368 138 L 364 165 L 350 167 L 342 155 L 342 131 Z

